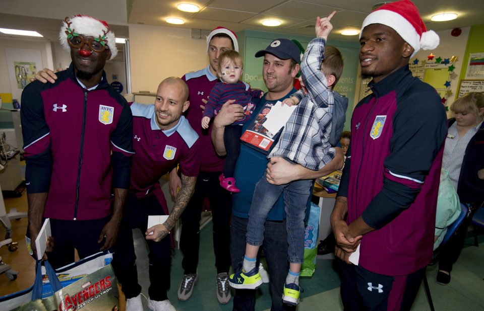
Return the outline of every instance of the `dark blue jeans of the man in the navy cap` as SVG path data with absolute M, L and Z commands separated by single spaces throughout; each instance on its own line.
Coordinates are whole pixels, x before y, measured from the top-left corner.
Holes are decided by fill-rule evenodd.
M 232 215 L 230 226 L 230 257 L 232 258 L 232 267 L 236 269 L 237 265 L 244 258 L 246 253 L 246 218 L 240 218 Z M 282 291 L 286 281 L 289 263 L 286 260 L 287 240 L 286 240 L 286 221 L 266 221 L 264 231 L 264 251 L 265 259 L 269 272 L 269 288 L 272 297 L 271 311 L 289 311 L 295 310 L 293 305 L 282 303 Z M 236 311 L 253 311 L 256 305 L 257 290 L 253 289 L 235 289 L 233 297 L 233 310 Z

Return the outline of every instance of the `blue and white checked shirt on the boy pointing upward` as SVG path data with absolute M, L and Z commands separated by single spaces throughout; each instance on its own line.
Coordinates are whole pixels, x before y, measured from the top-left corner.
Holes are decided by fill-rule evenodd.
M 301 61 L 302 80 L 308 94 L 289 117 L 268 158 L 283 157 L 315 171 L 333 160 L 335 150 L 328 140 L 334 97 L 321 71 L 325 44 L 322 38 L 309 43 Z

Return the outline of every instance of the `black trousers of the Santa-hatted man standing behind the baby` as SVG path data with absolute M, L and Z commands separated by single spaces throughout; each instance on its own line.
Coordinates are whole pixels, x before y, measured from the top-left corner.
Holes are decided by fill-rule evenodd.
M 232 197 L 220 187 L 221 172 L 199 172 L 195 192 L 187 208 L 181 214 L 180 250 L 181 266 L 185 274 L 197 273 L 200 249 L 200 218 L 205 197 L 210 201 L 213 222 L 213 249 L 217 273 L 230 268 L 230 216 Z

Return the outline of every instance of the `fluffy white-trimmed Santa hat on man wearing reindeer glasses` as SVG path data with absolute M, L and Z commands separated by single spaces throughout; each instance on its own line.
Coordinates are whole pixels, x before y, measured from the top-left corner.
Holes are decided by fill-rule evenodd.
M 68 25 L 68 22 L 71 24 Z M 103 31 L 107 33 L 104 34 Z M 66 51 L 71 52 L 71 46 L 67 42 L 68 33 L 66 32 L 92 36 L 94 38 L 99 38 L 99 36 L 102 38 L 104 36 L 104 42 L 111 51 L 110 59 L 113 59 L 117 54 L 116 37 L 105 21 L 95 19 L 88 15 L 66 17 L 62 22 L 61 31 L 59 32 L 59 42 Z

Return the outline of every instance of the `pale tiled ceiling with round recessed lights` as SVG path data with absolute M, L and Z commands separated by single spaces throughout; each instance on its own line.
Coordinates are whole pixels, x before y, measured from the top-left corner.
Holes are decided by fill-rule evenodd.
M 67 15 L 87 14 L 106 20 L 116 36 L 129 37 L 128 24 L 146 24 L 164 27 L 213 29 L 225 26 L 235 32 L 244 29 L 294 35 L 314 35 L 316 16 L 337 11 L 333 18 L 333 38 L 345 37 L 338 31 L 346 27 L 360 28 L 362 21 L 379 0 L 19 0 L 2 1 L 0 27 L 36 30 L 47 40 L 57 40 L 61 20 Z M 192 3 L 202 10 L 184 13 L 176 9 L 179 3 Z M 427 28 L 436 31 L 483 24 L 482 0 L 415 0 Z M 454 21 L 431 22 L 432 15 L 455 12 Z M 170 25 L 167 17 L 183 18 L 184 25 Z M 262 20 L 275 18 L 282 21 L 278 27 L 265 27 Z M 7 36 L 0 34 L 0 36 Z

